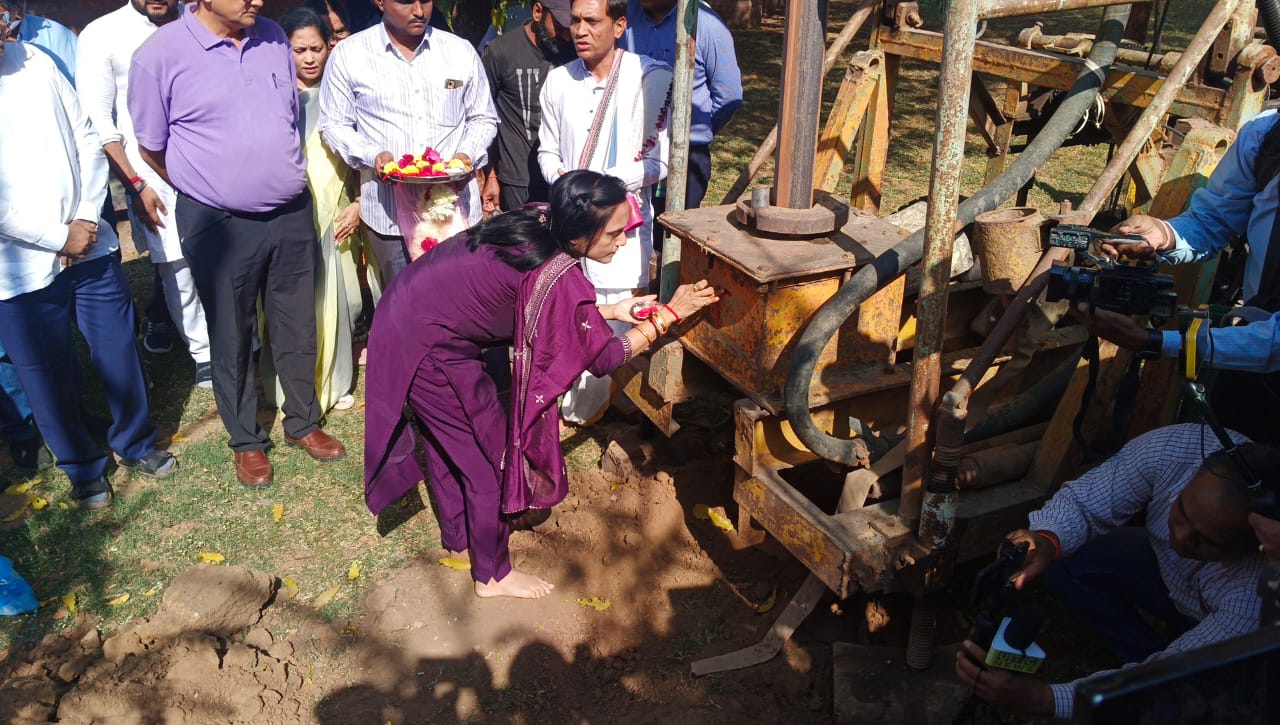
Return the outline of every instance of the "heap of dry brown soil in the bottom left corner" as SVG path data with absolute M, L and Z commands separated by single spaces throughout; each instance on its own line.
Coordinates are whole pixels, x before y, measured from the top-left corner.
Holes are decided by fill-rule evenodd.
M 91 621 L 50 635 L 5 678 L 0 720 L 47 722 L 296 722 L 308 703 L 288 642 L 251 629 L 273 576 L 196 566 L 155 616 L 102 640 Z

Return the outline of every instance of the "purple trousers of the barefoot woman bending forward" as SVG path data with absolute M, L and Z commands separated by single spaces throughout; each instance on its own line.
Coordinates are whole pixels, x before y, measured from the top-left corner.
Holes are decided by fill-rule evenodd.
M 424 357 L 408 403 L 422 424 L 426 478 L 440 520 L 440 543 L 452 551 L 470 550 L 476 582 L 504 578 L 511 573 L 511 528 L 500 515 L 498 466 L 506 447 L 507 418 L 493 378 L 479 357 L 443 365 Z

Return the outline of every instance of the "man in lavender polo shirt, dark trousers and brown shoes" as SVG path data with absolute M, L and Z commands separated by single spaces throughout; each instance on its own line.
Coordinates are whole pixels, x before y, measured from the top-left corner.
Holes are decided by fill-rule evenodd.
M 317 241 L 293 54 L 262 0 L 196 0 L 134 54 L 129 114 L 141 155 L 178 190 L 178 233 L 209 320 L 214 397 L 236 475 L 269 485 L 250 345 L 262 297 L 284 388 L 284 441 L 321 461 L 346 451 L 320 429 L 315 393 Z

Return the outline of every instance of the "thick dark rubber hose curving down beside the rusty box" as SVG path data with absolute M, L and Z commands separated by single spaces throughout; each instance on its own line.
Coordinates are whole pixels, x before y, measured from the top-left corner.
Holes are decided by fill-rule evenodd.
M 1124 37 L 1128 22 L 1129 5 L 1114 5 L 1106 9 L 1102 26 L 1098 28 L 1098 40 L 1093 44 L 1093 50 L 1070 94 L 1018 159 L 996 181 L 960 204 L 957 216 L 961 227 L 1016 193 L 1032 178 L 1036 169 L 1062 146 L 1068 134 L 1096 102 L 1098 88 L 1102 87 L 1107 68 L 1115 60 L 1116 47 Z M 813 421 L 813 415 L 809 412 L 809 388 L 818 366 L 818 357 L 858 306 L 919 261 L 923 252 L 924 229 L 918 229 L 876 257 L 872 264 L 854 273 L 849 282 L 814 313 L 813 319 L 800 333 L 783 388 L 787 420 L 791 421 L 791 428 L 800 441 L 828 461 L 855 466 L 859 465 L 859 452 L 854 439 L 828 436 Z

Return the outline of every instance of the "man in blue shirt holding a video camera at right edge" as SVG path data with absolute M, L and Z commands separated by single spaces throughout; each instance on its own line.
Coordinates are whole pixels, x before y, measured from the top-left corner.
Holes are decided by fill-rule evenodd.
M 1208 184 L 1198 190 L 1187 211 L 1165 222 L 1144 214 L 1125 219 L 1115 231 L 1140 234 L 1147 245 L 1126 247 L 1129 256 L 1188 264 L 1213 259 L 1236 237 L 1248 242 L 1244 268 L 1245 305 L 1257 307 L 1254 322 L 1236 327 L 1202 328 L 1197 361 L 1203 369 L 1230 371 L 1220 375 L 1212 392 L 1213 407 L 1224 423 L 1254 441 L 1277 442 L 1280 415 L 1280 289 L 1276 277 L 1263 273 L 1270 248 L 1276 243 L 1276 209 L 1280 205 L 1280 175 L 1256 177 L 1263 138 L 1280 122 L 1275 111 L 1258 114 L 1244 124 Z M 1103 245 L 1103 251 L 1117 250 Z M 1280 252 L 1280 250 L 1276 250 Z M 1280 260 L 1280 257 L 1277 257 Z M 1098 337 L 1130 350 L 1176 357 L 1181 336 L 1176 330 L 1148 330 L 1133 318 L 1078 309 L 1076 316 Z M 1257 414 L 1257 415 L 1252 415 Z M 1251 418 L 1257 420 L 1249 420 Z

